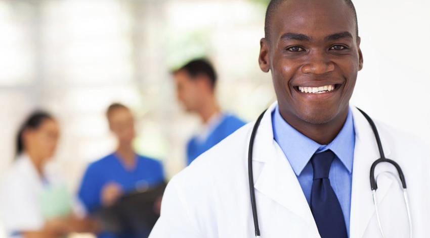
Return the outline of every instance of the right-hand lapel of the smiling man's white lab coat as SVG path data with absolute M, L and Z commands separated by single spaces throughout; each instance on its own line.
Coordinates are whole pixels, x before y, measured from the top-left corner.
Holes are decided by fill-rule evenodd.
M 353 116 L 356 140 L 351 194 L 350 238 L 361 238 L 375 212 L 369 174 L 372 163 L 380 156 L 375 136 L 366 118 L 356 108 L 353 109 Z M 385 156 L 388 156 L 390 154 L 389 147 L 383 139 L 384 137 L 381 135 L 382 147 Z M 386 164 L 378 165 L 380 170 L 385 169 L 386 166 Z M 377 182 L 377 196 L 378 203 L 380 203 L 390 188 L 393 187 L 393 181 L 387 177 L 381 177 Z

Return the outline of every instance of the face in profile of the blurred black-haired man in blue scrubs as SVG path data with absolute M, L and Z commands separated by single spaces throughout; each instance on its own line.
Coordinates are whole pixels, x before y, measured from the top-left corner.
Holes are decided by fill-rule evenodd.
M 174 74 L 178 100 L 189 112 L 196 111 L 200 103 L 202 93 L 201 80 L 192 79 L 184 70 Z

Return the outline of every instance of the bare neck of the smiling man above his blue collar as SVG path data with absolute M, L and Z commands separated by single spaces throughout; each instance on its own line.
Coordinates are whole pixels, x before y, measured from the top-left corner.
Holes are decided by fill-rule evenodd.
M 339 113 L 333 120 L 325 124 L 311 124 L 300 120 L 288 113 L 281 113 L 284 120 L 295 130 L 312 139 L 320 145 L 328 145 L 339 134 L 348 117 L 347 107 Z

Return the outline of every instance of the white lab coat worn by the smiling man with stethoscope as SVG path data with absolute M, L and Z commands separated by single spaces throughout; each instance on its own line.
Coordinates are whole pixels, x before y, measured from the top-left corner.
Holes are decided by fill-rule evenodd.
M 311 210 L 287 158 L 273 139 L 271 111 L 263 117 L 254 143 L 254 188 L 261 237 L 320 237 Z M 353 109 L 356 144 L 351 197 L 351 238 L 381 237 L 369 171 L 379 153 L 365 117 Z M 413 237 L 430 237 L 429 147 L 407 134 L 377 123 L 387 158 L 399 163 L 406 177 Z M 254 237 L 247 154 L 253 123 L 197 158 L 168 184 L 161 216 L 150 238 Z M 377 166 L 378 204 L 385 237 L 409 237 L 403 194 L 395 169 Z M 395 172 L 397 174 L 397 172 Z

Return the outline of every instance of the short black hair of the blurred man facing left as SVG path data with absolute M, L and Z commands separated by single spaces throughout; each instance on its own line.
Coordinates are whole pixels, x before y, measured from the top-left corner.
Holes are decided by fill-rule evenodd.
M 197 58 L 188 62 L 186 65 L 181 68 L 173 71 L 173 74 L 178 73 L 179 71 L 186 71 L 191 78 L 194 78 L 200 74 L 207 76 L 209 79 L 209 85 L 213 89 L 215 88 L 217 82 L 217 73 L 213 69 L 213 66 L 209 63 L 209 61 L 205 58 Z

